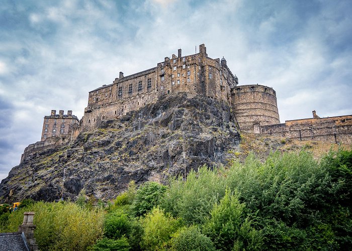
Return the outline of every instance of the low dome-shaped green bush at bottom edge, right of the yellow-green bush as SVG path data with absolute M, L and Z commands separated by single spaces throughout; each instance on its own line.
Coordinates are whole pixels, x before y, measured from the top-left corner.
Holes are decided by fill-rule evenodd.
M 183 228 L 172 238 L 175 251 L 215 251 L 211 239 L 202 234 L 197 226 Z

